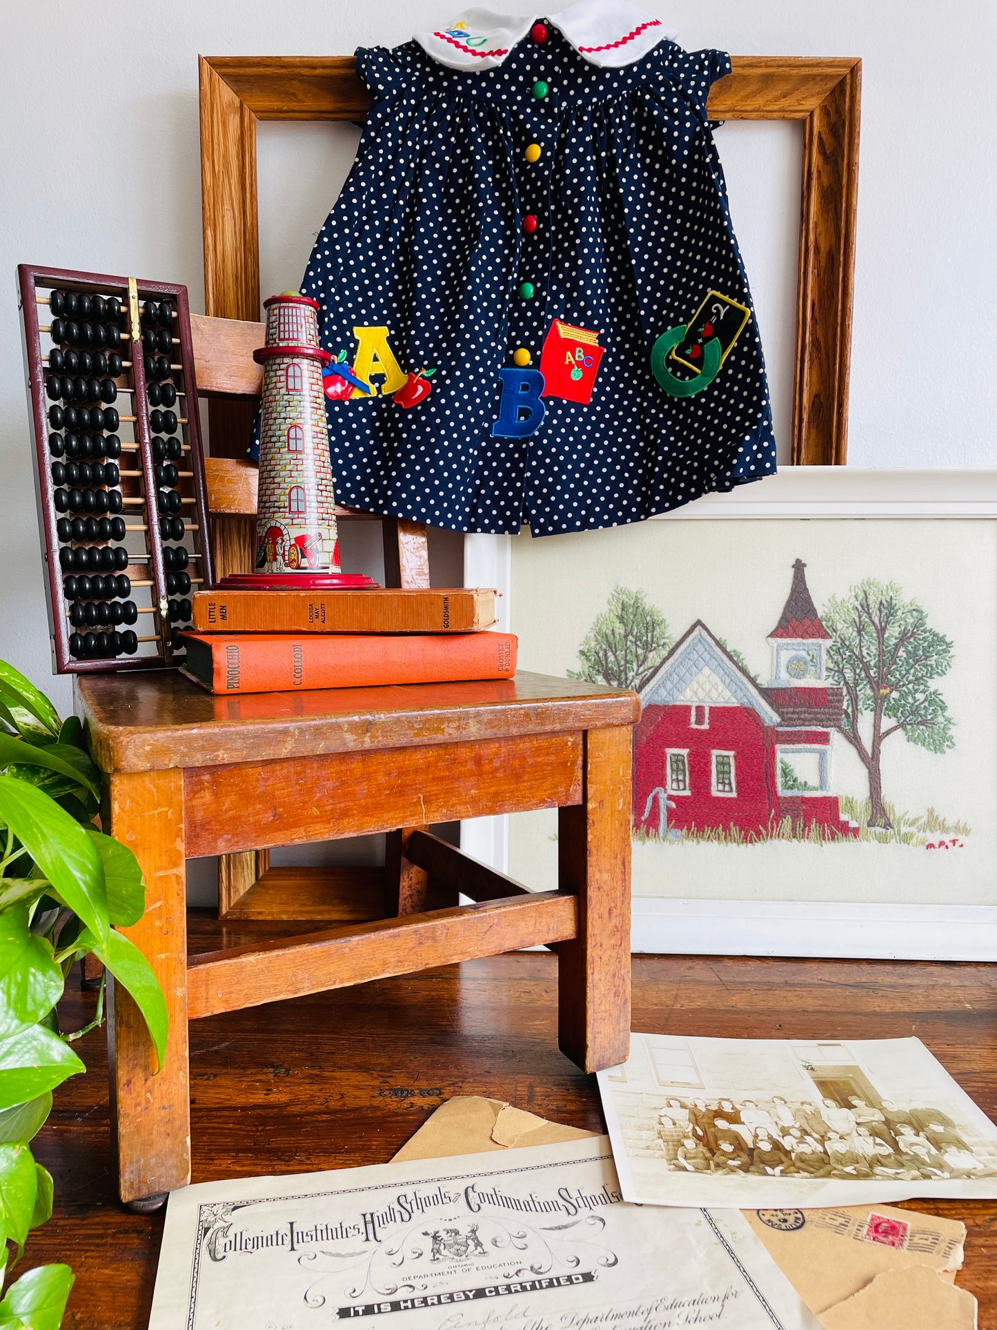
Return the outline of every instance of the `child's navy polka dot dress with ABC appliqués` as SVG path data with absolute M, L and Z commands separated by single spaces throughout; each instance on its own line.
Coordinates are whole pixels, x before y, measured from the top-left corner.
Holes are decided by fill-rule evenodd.
M 302 283 L 343 503 L 541 536 L 775 472 L 706 118 L 730 57 L 662 37 L 601 66 L 558 17 L 489 68 L 416 41 L 356 53 L 372 105 Z

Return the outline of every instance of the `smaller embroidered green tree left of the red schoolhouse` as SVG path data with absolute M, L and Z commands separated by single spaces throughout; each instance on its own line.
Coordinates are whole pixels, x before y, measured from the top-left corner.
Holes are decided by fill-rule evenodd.
M 643 592 L 617 587 L 578 648 L 581 669 L 568 676 L 639 693 L 673 642 L 665 616 Z

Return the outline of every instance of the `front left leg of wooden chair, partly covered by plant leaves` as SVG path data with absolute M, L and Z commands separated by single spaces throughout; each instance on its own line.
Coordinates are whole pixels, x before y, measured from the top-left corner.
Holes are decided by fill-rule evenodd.
M 138 1008 L 108 983 L 108 1067 L 121 1200 L 156 1204 L 190 1181 L 187 1069 L 187 920 L 183 864 L 183 773 L 124 771 L 110 777 L 110 834 L 129 846 L 145 875 L 145 914 L 122 932 L 162 984 L 170 1028 L 166 1060 Z M 106 823 L 105 823 L 106 825 Z M 165 1197 L 164 1197 L 165 1198 Z

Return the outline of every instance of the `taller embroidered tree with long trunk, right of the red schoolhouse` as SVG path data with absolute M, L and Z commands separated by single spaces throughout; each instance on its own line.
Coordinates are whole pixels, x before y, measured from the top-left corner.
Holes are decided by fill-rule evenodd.
M 954 746 L 952 717 L 935 680 L 952 668 L 953 644 L 931 628 L 915 600 L 869 577 L 833 596 L 823 622 L 831 633 L 828 674 L 844 689 L 841 733 L 869 779 L 869 826 L 892 826 L 883 806 L 883 745 L 903 734 L 932 753 Z

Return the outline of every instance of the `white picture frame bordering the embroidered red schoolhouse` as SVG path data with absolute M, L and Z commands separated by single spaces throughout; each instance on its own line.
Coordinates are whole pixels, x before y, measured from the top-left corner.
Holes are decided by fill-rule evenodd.
M 997 468 L 787 467 L 763 483 L 726 495 L 709 495 L 650 520 L 800 517 L 997 520 Z M 516 629 L 512 592 L 517 539 L 524 537 L 465 537 L 465 585 L 498 589 L 497 626 L 504 632 Z M 593 605 L 593 616 L 600 608 Z M 997 614 L 997 605 L 993 610 Z M 528 650 L 525 656 L 528 660 Z M 508 871 L 508 817 L 463 825 L 465 851 L 502 872 Z M 859 904 L 634 896 L 631 938 L 635 952 L 673 955 L 992 962 L 997 960 L 997 903 Z

